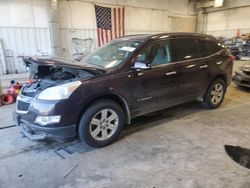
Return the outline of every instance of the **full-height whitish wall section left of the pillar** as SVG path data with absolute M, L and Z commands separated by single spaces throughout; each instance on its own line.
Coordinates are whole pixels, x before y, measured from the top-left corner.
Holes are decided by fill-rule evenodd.
M 0 0 L 0 41 L 9 73 L 25 71 L 20 55 L 51 54 L 49 11 L 47 0 Z

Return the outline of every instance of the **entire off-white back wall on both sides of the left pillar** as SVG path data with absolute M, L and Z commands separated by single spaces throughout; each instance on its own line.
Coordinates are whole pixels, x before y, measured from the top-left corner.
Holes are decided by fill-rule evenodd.
M 9 73 L 25 71 L 19 55 L 52 54 L 50 4 L 51 0 L 0 0 L 0 40 Z M 124 6 L 126 35 L 175 30 L 171 27 L 173 17 L 190 18 L 193 14 L 189 0 L 59 0 L 62 56 L 71 56 L 74 37 L 92 38 L 92 49 L 97 47 L 94 4 Z M 190 31 L 190 27 L 182 31 Z

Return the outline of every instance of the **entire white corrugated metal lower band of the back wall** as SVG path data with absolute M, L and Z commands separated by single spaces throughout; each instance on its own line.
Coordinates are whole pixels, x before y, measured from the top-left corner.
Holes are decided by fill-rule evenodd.
M 92 50 L 97 48 L 95 29 L 61 28 L 62 56 L 72 57 L 72 38 L 92 38 Z M 164 31 L 126 30 L 126 35 L 154 34 Z M 0 27 L 0 39 L 3 42 L 7 73 L 25 72 L 26 68 L 19 56 L 51 55 L 51 35 L 49 28 Z M 0 62 L 2 65 L 3 62 Z M 3 66 L 1 66 L 2 69 Z

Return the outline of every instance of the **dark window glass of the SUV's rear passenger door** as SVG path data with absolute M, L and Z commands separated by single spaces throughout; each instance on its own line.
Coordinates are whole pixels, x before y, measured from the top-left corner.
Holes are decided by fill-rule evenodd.
M 199 42 L 195 38 L 171 39 L 170 43 L 173 61 L 183 61 L 201 56 Z

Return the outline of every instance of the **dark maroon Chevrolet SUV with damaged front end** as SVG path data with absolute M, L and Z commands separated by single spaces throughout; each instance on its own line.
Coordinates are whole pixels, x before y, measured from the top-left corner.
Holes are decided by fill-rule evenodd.
M 24 59 L 34 70 L 17 98 L 15 119 L 34 140 L 114 142 L 143 114 L 202 100 L 217 108 L 231 82 L 232 58 L 212 36 L 165 33 L 113 40 L 80 62 Z

